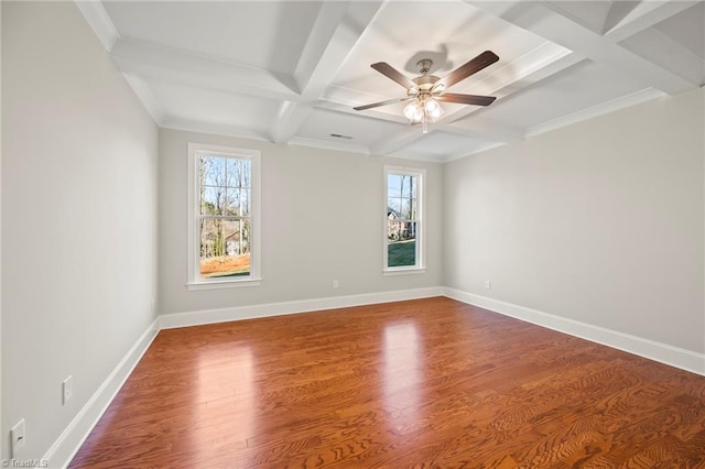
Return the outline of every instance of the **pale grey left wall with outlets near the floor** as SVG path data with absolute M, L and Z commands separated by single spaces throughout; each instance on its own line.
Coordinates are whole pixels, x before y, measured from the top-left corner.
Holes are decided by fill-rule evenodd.
M 73 2 L 2 2 L 2 73 L 0 434 L 25 418 L 29 459 L 154 319 L 159 135 Z

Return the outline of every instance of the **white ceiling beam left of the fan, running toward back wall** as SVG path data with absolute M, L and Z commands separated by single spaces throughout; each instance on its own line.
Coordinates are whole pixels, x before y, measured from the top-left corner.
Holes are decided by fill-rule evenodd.
M 322 18 L 337 17 L 340 14 L 340 10 L 335 7 L 335 2 L 328 7 L 326 7 L 327 2 L 324 3 L 318 17 L 318 20 L 322 21 L 316 21 L 318 30 L 312 32 L 315 39 L 310 37 L 310 43 L 306 44 L 304 50 L 306 65 L 302 65 L 297 69 L 299 80 L 301 83 L 305 81 L 301 99 L 296 102 L 282 103 L 280 107 L 279 118 L 274 122 L 272 130 L 272 140 L 274 142 L 289 142 L 301 128 L 311 114 L 313 105 L 333 80 L 338 68 L 340 68 L 340 65 L 343 65 L 383 3 L 384 1 L 381 0 L 344 3 L 346 6 L 345 14 L 336 23 L 333 34 L 325 32 L 328 26 L 322 24 Z M 325 46 L 319 43 L 324 39 L 327 39 Z M 317 61 L 315 59 L 316 54 L 321 54 Z M 313 65 L 314 63 L 315 66 Z M 311 68 L 313 70 L 308 73 L 307 70 Z

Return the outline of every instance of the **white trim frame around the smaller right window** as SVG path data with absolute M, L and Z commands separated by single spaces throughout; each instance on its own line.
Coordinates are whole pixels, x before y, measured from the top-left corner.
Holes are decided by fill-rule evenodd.
M 417 232 L 416 232 L 416 265 L 409 266 L 400 266 L 400 268 L 390 268 L 387 265 L 389 259 L 388 251 L 388 239 L 387 239 L 387 208 L 388 208 L 388 181 L 389 174 L 403 174 L 405 176 L 416 176 L 420 181 L 420 184 L 416 185 L 416 200 L 421 201 L 416 206 L 416 223 L 417 223 Z M 384 165 L 384 196 L 383 196 L 383 229 L 382 229 L 382 273 L 384 275 L 405 275 L 405 274 L 420 274 L 426 272 L 426 222 L 425 222 L 425 211 L 426 211 L 426 170 L 420 167 L 404 167 L 404 166 L 391 166 Z

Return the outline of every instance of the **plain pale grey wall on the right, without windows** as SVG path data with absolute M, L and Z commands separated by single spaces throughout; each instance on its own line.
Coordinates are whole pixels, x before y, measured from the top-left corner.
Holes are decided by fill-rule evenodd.
M 703 94 L 447 164 L 445 284 L 705 352 Z

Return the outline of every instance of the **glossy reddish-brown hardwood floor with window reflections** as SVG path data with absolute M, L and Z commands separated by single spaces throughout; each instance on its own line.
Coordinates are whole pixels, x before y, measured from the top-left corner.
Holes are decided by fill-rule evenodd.
M 705 468 L 705 378 L 448 298 L 159 334 L 72 468 Z

